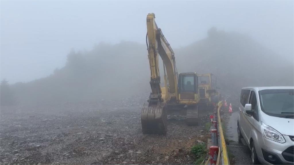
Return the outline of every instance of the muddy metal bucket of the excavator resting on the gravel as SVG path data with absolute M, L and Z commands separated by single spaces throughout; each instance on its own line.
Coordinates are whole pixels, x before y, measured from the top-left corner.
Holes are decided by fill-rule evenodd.
M 143 134 L 166 134 L 166 104 L 143 106 L 141 124 Z

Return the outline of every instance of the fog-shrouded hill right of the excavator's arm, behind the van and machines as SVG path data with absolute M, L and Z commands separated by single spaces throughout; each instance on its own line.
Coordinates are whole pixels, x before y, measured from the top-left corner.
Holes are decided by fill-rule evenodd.
M 231 101 L 246 86 L 293 86 L 293 55 L 281 56 L 252 38 L 211 28 L 208 37 L 176 51 L 181 72 L 213 73 Z

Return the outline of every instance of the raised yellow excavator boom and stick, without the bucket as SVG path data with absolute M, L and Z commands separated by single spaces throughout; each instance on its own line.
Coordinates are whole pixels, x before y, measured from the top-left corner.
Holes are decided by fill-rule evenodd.
M 178 73 L 176 70 L 176 61 L 173 49 L 164 37 L 160 28 L 157 27 L 155 22 L 155 15 L 147 15 L 147 36 L 146 44 L 148 49 L 148 58 L 151 70 L 151 90 L 150 100 L 156 102 L 161 100 L 161 87 L 159 76 L 159 61 L 158 56 L 163 61 L 164 80 L 166 88 L 166 100 L 178 100 Z M 167 75 L 166 75 L 167 74 Z M 167 86 L 167 84 L 169 86 Z

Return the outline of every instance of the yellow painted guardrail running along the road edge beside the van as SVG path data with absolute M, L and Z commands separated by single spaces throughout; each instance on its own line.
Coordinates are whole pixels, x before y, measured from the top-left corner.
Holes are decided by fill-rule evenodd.
M 227 146 L 225 145 L 225 137 L 223 136 L 223 127 L 221 125 L 221 120 L 220 120 L 220 108 L 223 105 L 222 101 L 218 102 L 218 132 L 219 132 L 219 138 L 220 138 L 220 143 L 219 148 L 221 149 L 222 155 L 223 155 L 223 164 L 228 165 L 230 164 L 229 162 L 229 157 L 228 157 L 228 151 L 227 151 Z M 220 153 L 220 150 L 218 151 Z M 219 156 L 218 154 L 218 161 L 216 164 L 219 164 Z

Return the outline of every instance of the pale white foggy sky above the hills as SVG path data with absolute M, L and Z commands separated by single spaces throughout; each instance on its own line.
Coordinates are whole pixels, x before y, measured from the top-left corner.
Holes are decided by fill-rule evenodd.
M 145 44 L 151 12 L 173 48 L 205 38 L 216 26 L 293 56 L 293 1 L 1 1 L 1 79 L 45 77 L 65 65 L 72 48 Z

